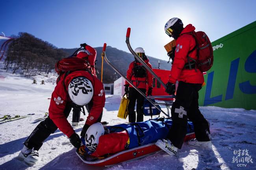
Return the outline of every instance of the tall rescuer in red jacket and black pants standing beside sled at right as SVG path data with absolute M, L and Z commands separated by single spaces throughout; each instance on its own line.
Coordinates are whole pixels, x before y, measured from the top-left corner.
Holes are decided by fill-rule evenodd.
M 158 140 L 156 145 L 170 155 L 181 149 L 184 137 L 186 136 L 187 119 L 193 122 L 196 139 L 189 141 L 194 146 L 211 148 L 210 129 L 208 121 L 201 114 L 198 107 L 198 91 L 204 82 L 203 73 L 197 69 L 197 64 L 191 60 L 192 68 L 189 68 L 187 57 L 197 59 L 195 38 L 188 34 L 195 31 L 195 27 L 188 24 L 183 27 L 182 20 L 171 18 L 165 24 L 165 33 L 176 40 L 174 61 L 171 74 L 166 84 L 167 93 L 175 93 L 175 84 L 178 80 L 176 100 L 171 108 L 173 126 L 167 139 Z

